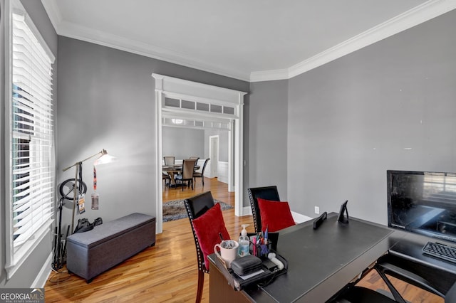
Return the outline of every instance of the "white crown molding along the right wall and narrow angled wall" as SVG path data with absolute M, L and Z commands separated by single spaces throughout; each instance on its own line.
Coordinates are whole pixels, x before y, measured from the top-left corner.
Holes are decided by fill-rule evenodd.
M 337 58 L 341 58 L 344 55 L 348 55 L 356 50 L 370 46 L 375 42 L 393 36 L 401 31 L 405 31 L 413 26 L 417 26 L 420 23 L 445 14 L 453 9 L 456 9 L 456 1 L 426 1 L 409 11 L 405 11 L 403 14 L 390 18 L 390 20 L 368 29 L 368 31 L 364 31 L 353 38 L 343 41 L 332 48 L 328 48 L 327 50 L 324 50 L 309 59 L 291 66 L 286 69 L 287 73 L 285 73 L 283 69 L 268 70 L 266 72 L 253 72 L 250 74 L 250 82 L 285 79 L 285 74 L 288 74 L 288 78 L 286 79 L 296 77 L 297 75 L 301 75 L 302 73 L 306 73 L 318 66 L 329 63 Z M 277 76 L 279 77 L 275 78 Z

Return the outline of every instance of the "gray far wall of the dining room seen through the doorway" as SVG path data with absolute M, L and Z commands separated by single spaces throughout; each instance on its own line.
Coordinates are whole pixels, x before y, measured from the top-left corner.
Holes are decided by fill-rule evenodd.
M 162 155 L 175 156 L 175 159 L 188 159 L 190 156 L 204 158 L 204 130 L 183 127 L 162 128 Z

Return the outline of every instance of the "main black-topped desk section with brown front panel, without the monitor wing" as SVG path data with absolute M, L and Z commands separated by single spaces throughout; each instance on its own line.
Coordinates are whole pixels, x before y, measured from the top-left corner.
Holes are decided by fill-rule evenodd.
M 336 218 L 328 214 L 316 230 L 312 221 L 281 230 L 277 252 L 288 271 L 266 287 L 235 292 L 217 257 L 209 255 L 210 302 L 325 302 L 395 244 L 389 238 L 394 231 L 383 225 Z

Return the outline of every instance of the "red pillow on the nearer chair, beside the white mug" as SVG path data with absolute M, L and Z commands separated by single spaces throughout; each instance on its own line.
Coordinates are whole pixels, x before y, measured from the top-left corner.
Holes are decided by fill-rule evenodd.
M 209 270 L 209 260 L 207 256 L 214 253 L 214 245 L 222 242 L 219 233 L 222 233 L 224 240 L 229 240 L 229 233 L 225 227 L 222 216 L 222 208 L 219 203 L 215 203 L 209 211 L 196 218 L 193 222 L 193 228 L 197 234 L 199 247 L 204 255 L 204 265 Z

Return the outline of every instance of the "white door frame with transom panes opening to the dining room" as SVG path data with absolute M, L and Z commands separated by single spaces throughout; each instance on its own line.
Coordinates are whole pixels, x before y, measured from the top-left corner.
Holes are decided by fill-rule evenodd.
M 243 107 L 247 92 L 230 90 L 152 74 L 155 78 L 155 201 L 156 233 L 162 233 L 162 126 L 180 119 L 187 127 L 212 127 L 230 131 L 229 178 L 234 181 L 234 215 L 243 216 Z M 217 147 L 218 148 L 218 147 Z M 217 154 L 218 157 L 218 154 Z M 211 159 L 212 160 L 212 159 Z M 212 162 L 212 161 L 210 161 Z M 214 162 L 212 162 L 214 163 Z M 218 171 L 217 171 L 218 174 Z

